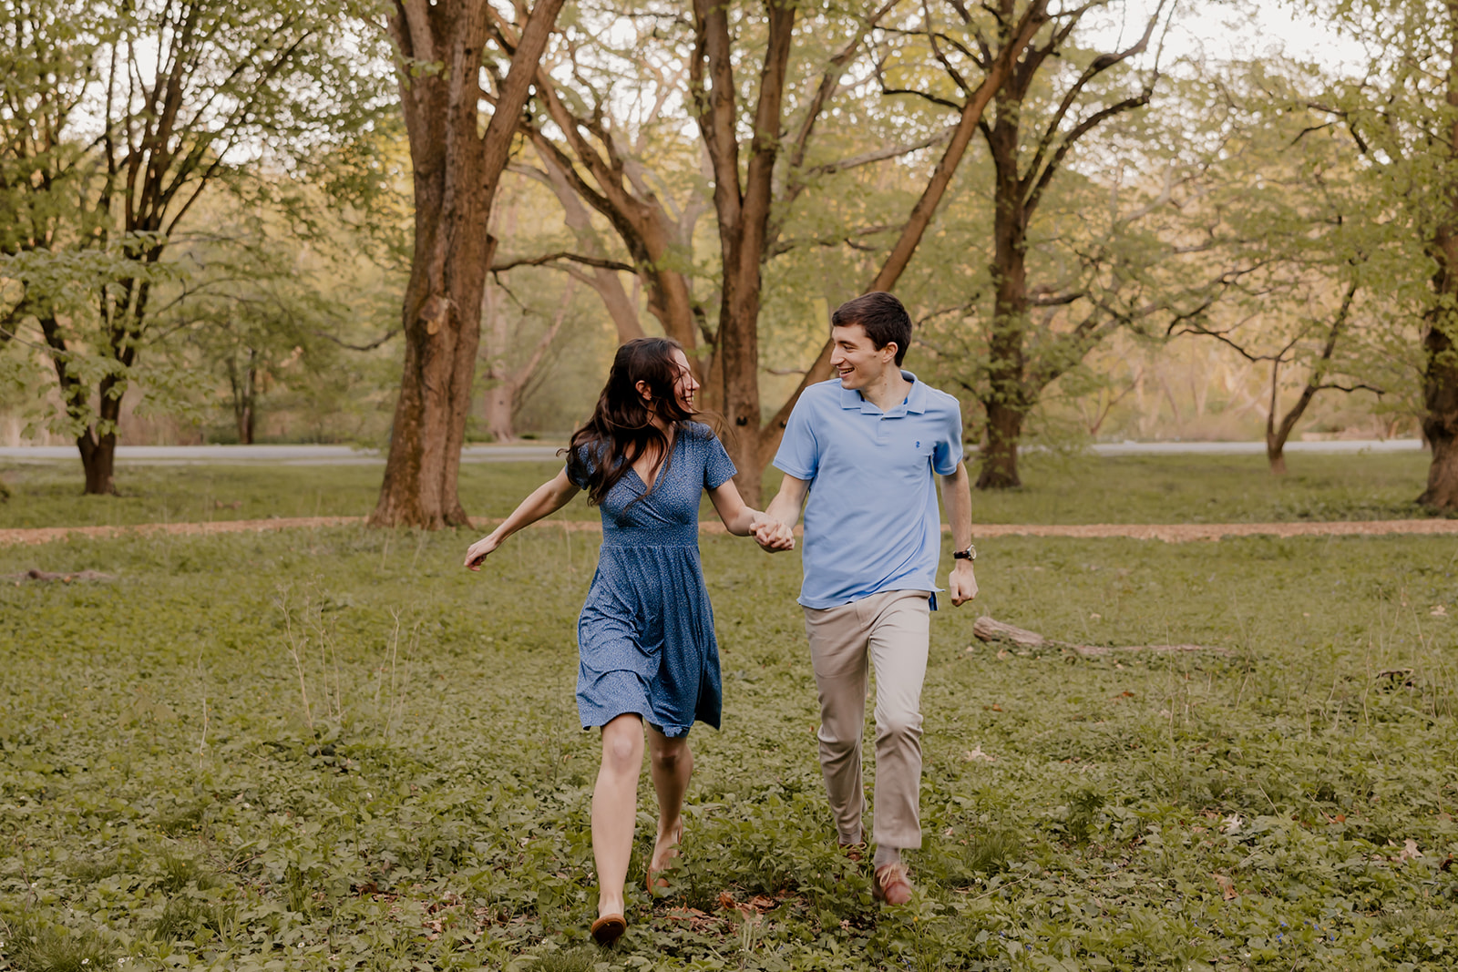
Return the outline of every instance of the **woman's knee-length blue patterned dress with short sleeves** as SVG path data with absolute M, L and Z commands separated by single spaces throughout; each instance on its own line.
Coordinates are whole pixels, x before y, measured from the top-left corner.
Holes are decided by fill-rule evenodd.
M 582 449 L 590 465 L 595 456 Z M 604 498 L 598 573 L 577 618 L 583 729 L 625 713 L 671 737 L 687 734 L 695 720 L 719 729 L 723 686 L 698 563 L 698 498 L 733 475 L 713 431 L 685 423 L 652 493 L 630 469 Z

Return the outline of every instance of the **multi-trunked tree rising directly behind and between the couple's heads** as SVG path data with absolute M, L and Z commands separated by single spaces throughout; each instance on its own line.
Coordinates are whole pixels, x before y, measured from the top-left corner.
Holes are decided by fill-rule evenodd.
M 764 421 L 760 326 L 765 264 L 805 245 L 841 246 L 895 233 L 897 242 L 879 271 L 868 274 L 873 289 L 894 286 L 926 233 L 1002 73 L 1048 20 L 1041 0 L 1021 10 L 1009 4 L 1006 16 L 999 15 L 989 29 L 991 41 L 983 64 L 987 76 L 967 89 L 964 101 L 951 102 L 958 121 L 951 127 L 936 124 L 932 133 L 903 141 L 881 138 L 898 131 L 898 119 L 891 115 L 882 115 L 885 133 L 857 133 L 834 124 L 837 117 L 862 115 L 865 99 L 873 95 L 879 77 L 875 63 L 886 55 L 872 51 L 872 41 L 881 36 L 895 7 L 889 1 L 847 12 L 779 0 L 742 7 L 698 1 L 688 17 L 633 20 L 647 26 L 639 42 L 621 45 L 631 55 L 593 47 L 588 32 L 567 45 L 570 57 L 560 71 L 541 71 L 544 118 L 531 124 L 531 137 L 577 195 L 608 219 L 643 281 L 649 309 L 669 335 L 693 351 L 706 380 L 706 399 L 729 420 L 728 444 L 741 471 L 739 488 L 751 501 L 760 495 L 760 477 L 795 399 L 809 382 L 828 376 L 830 361 L 827 344 L 800 386 Z M 643 54 L 665 36 L 666 52 Z M 609 74 L 608 63 L 636 64 L 646 80 L 625 95 L 624 71 L 618 67 Z M 757 86 L 741 83 L 741 73 L 755 73 Z M 563 79 L 572 79 L 570 89 Z M 624 101 L 639 105 L 628 124 L 614 119 L 615 103 Z M 660 156 L 668 150 L 678 159 L 694 157 L 684 150 L 684 133 L 663 119 L 665 106 L 678 102 L 693 112 L 695 150 L 706 160 L 701 181 L 712 189 L 719 287 L 710 300 L 694 293 L 690 275 L 697 265 L 691 236 L 703 213 L 701 198 L 691 191 L 671 198 L 665 187 L 674 182 L 646 157 L 650 147 Z M 548 137 L 547 122 L 561 133 L 560 141 Z M 828 127 L 838 137 L 816 138 Z M 866 166 L 937 146 L 945 149 L 910 216 L 891 223 L 834 226 L 805 238 L 789 232 L 796 227 L 796 214 L 830 191 L 833 178 L 853 179 Z

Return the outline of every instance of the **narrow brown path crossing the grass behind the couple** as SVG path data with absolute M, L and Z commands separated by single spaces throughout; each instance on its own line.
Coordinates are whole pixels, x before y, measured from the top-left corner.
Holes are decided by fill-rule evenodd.
M 17 544 L 51 544 L 71 536 L 117 538 L 147 535 L 200 533 L 258 533 L 286 529 L 319 529 L 328 526 L 357 526 L 362 516 L 305 516 L 270 520 L 214 520 L 211 523 L 140 523 L 136 526 L 39 526 L 0 530 L 0 546 Z M 480 530 L 500 523 L 500 519 L 478 519 Z M 564 529 L 599 533 L 598 520 L 545 520 L 531 529 Z M 704 533 L 723 533 L 723 523 L 706 522 Z M 942 529 L 948 526 L 943 523 Z M 800 533 L 800 528 L 795 528 Z M 1080 539 L 1131 538 L 1139 541 L 1219 541 L 1226 536 L 1389 536 L 1389 535 L 1458 535 L 1458 520 L 1334 520 L 1327 523 L 978 523 L 972 535 L 984 536 L 1072 536 Z

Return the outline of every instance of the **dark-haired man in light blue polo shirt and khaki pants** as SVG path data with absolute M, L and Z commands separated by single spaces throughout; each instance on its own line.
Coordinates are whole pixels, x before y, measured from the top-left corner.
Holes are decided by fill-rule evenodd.
M 901 851 L 921 847 L 921 682 L 942 551 L 942 477 L 955 561 L 954 605 L 977 596 L 972 497 L 955 398 L 901 370 L 911 319 L 888 293 L 869 293 L 831 318 L 838 377 L 805 389 L 784 427 L 780 493 L 755 536 L 783 539 L 805 507 L 805 608 L 819 689 L 819 759 L 840 844 L 865 845 L 860 739 L 868 662 L 876 673 L 875 893 L 911 898 Z

